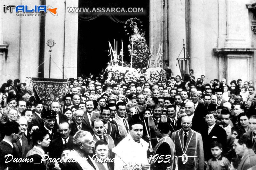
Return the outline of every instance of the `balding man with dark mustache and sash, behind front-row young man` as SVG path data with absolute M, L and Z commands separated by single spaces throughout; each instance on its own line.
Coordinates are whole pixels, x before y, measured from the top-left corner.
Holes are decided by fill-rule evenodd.
M 114 140 L 112 139 L 112 137 L 110 135 L 104 134 L 104 122 L 102 119 L 94 119 L 92 121 L 92 130 L 93 130 L 93 145 L 95 145 L 95 143 L 98 140 L 104 140 L 106 142 L 108 142 L 108 148 L 109 148 L 109 157 L 112 159 L 114 158 L 113 153 L 111 152 L 111 150 L 115 147 L 115 143 Z M 93 154 L 95 154 L 95 149 L 93 149 Z

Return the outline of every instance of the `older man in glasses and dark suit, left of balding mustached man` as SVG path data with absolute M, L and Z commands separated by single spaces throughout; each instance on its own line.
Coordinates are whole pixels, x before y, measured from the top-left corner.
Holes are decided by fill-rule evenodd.
M 70 124 L 70 135 L 74 136 L 79 130 L 92 131 L 92 129 L 88 129 L 88 127 L 83 123 L 84 119 L 84 111 L 76 110 L 74 113 L 75 122 Z

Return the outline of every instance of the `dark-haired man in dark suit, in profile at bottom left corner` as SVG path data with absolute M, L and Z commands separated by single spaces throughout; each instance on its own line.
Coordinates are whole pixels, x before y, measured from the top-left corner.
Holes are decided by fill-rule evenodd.
M 4 139 L 0 142 L 0 169 L 18 169 L 19 164 L 10 161 L 5 163 L 5 155 L 12 154 L 15 158 L 13 151 L 13 144 L 16 143 L 21 136 L 20 125 L 17 122 L 6 122 L 4 124 Z

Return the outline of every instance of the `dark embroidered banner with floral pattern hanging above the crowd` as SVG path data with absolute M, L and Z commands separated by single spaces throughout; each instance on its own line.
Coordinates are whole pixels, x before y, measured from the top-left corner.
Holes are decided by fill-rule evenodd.
M 36 100 L 41 100 L 49 110 L 54 101 L 61 102 L 68 85 L 67 79 L 31 78 Z

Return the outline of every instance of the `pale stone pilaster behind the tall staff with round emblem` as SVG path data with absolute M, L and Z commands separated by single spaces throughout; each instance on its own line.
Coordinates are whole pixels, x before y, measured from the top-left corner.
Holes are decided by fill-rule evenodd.
M 45 16 L 45 42 L 52 39 L 56 43 L 52 47 L 51 78 L 64 78 L 65 4 L 64 1 L 46 0 L 46 5 L 50 5 L 52 8 L 57 8 L 58 13 L 58 16 L 54 16 L 50 11 L 47 11 Z M 49 78 L 49 49 L 47 44 L 45 44 L 44 78 Z

